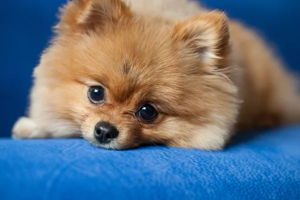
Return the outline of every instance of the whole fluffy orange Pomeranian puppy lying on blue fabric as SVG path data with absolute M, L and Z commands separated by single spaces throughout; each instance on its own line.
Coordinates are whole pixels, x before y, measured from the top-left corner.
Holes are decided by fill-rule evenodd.
M 295 79 L 255 32 L 187 0 L 73 0 L 34 69 L 14 138 L 217 150 L 300 121 Z

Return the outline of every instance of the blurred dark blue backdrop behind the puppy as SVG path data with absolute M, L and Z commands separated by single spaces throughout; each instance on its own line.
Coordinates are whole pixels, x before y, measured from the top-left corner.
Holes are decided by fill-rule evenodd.
M 57 8 L 66 0 L 2 0 L 0 5 L 0 136 L 9 136 L 13 122 L 28 104 L 32 68 L 57 22 Z M 286 66 L 300 69 L 299 0 L 202 0 L 232 18 L 255 27 Z

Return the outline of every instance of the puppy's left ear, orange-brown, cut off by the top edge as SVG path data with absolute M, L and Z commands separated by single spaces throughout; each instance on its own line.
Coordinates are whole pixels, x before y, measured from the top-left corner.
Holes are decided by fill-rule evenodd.
M 130 16 L 130 8 L 122 0 L 72 0 L 60 9 L 60 22 L 55 28 L 88 32 Z

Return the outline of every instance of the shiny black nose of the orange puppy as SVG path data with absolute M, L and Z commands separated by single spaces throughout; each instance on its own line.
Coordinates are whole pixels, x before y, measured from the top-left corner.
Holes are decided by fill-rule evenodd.
M 118 130 L 114 125 L 100 121 L 95 126 L 94 135 L 100 143 L 108 143 L 111 139 L 117 137 Z

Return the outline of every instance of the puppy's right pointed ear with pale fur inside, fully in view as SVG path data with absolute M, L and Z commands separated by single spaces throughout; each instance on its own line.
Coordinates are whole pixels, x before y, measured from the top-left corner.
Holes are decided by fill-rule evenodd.
M 222 58 L 229 42 L 227 17 L 216 10 L 179 22 L 172 33 L 177 42 L 197 53 L 201 62 L 212 66 Z

